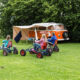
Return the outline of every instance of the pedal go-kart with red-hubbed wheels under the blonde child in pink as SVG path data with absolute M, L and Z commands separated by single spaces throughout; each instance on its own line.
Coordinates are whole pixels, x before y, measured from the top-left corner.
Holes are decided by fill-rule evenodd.
M 36 43 L 34 43 L 34 48 L 31 49 L 22 49 L 20 51 L 20 55 L 21 56 L 25 56 L 26 52 L 29 52 L 30 54 L 36 54 L 37 58 L 43 58 L 44 55 L 46 56 L 51 56 L 52 52 L 51 49 L 47 47 L 47 43 L 44 43 L 44 46 L 40 46 L 40 45 L 36 45 Z

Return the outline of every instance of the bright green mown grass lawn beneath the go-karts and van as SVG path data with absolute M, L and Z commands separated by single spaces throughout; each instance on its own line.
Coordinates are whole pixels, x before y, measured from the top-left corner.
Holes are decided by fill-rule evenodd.
M 14 45 L 19 51 L 31 46 Z M 0 80 L 80 80 L 80 43 L 62 43 L 59 48 L 60 52 L 43 59 L 29 53 L 3 56 L 0 51 Z

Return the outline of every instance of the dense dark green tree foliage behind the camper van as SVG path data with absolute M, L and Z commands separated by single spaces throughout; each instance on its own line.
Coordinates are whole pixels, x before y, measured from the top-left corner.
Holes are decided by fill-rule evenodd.
M 70 38 L 80 41 L 80 0 L 2 0 L 2 35 L 12 34 L 13 25 L 30 25 L 38 22 L 63 23 Z

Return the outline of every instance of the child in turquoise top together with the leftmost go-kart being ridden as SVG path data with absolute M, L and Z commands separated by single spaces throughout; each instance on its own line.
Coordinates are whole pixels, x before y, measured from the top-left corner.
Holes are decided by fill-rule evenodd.
M 10 40 L 10 35 L 7 35 L 6 40 L 3 40 L 3 45 L 0 47 L 0 50 L 3 50 L 3 55 L 7 56 L 8 53 L 13 51 L 13 54 L 18 54 L 16 47 L 12 47 L 12 41 Z

